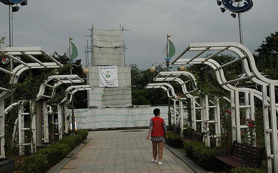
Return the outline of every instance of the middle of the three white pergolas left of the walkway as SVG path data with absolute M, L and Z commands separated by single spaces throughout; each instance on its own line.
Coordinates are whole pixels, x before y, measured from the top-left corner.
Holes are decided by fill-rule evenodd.
M 54 82 L 54 85 L 50 85 L 49 82 Z M 40 86 L 40 90 L 37 94 L 37 99 L 44 99 L 45 101 L 42 102 L 42 115 L 43 115 L 43 132 L 44 132 L 44 142 L 49 142 L 49 131 L 48 131 L 48 107 L 47 103 L 51 101 L 56 92 L 57 86 L 65 83 L 83 83 L 84 80 L 81 79 L 78 75 L 53 75 L 49 76 L 48 79 Z M 44 95 L 46 86 L 52 88 L 51 96 Z M 58 109 L 58 108 L 57 108 Z M 62 138 L 63 133 L 63 122 L 62 122 L 62 114 L 57 111 L 58 113 L 58 122 L 54 124 L 58 124 L 58 131 L 59 131 L 59 139 Z M 20 123 L 20 122 L 19 122 Z M 65 126 L 67 128 L 67 121 L 65 119 Z

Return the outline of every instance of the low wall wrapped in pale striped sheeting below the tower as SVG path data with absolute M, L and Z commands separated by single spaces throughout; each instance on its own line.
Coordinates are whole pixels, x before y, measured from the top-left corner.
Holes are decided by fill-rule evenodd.
M 168 122 L 167 106 L 148 108 L 99 108 L 99 109 L 75 109 L 74 115 L 77 121 L 77 129 L 99 129 L 120 127 L 148 126 L 154 116 L 153 110 L 159 108 L 161 117 L 166 124 Z M 68 110 L 71 114 L 71 110 Z

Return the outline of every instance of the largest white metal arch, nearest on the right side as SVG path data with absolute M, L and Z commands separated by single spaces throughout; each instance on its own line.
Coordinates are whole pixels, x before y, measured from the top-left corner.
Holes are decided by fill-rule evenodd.
M 262 85 L 262 102 L 263 102 L 263 112 L 264 112 L 264 127 L 265 127 L 265 147 L 266 147 L 266 153 L 267 153 L 267 165 L 268 165 L 268 171 L 272 172 L 272 160 L 274 162 L 274 171 L 278 171 L 278 136 L 277 136 L 277 124 L 276 124 L 276 111 L 277 111 L 277 106 L 278 104 L 275 103 L 275 86 L 278 85 L 278 80 L 272 80 L 268 79 L 265 76 L 263 76 L 257 69 L 254 61 L 254 57 L 252 53 L 243 45 L 239 43 L 234 43 L 234 42 L 223 42 L 223 43 L 193 43 L 189 44 L 188 48 L 185 49 L 174 61 L 172 64 L 184 64 L 184 63 L 194 63 L 196 62 L 194 59 L 198 58 L 200 55 L 202 55 L 206 51 L 210 50 L 216 50 L 215 53 L 212 55 L 208 56 L 207 58 L 203 58 L 201 63 L 208 62 L 213 58 L 214 56 L 220 54 L 221 52 L 225 50 L 232 51 L 236 53 L 239 58 L 226 63 L 224 65 L 221 65 L 215 69 L 216 73 L 219 73 L 220 71 L 220 80 L 221 86 L 228 86 L 230 83 L 242 81 L 245 79 L 251 79 L 253 82 Z M 200 51 L 198 54 L 190 58 L 189 60 L 185 62 L 181 58 L 187 51 Z M 200 58 L 198 58 L 200 60 Z M 223 78 L 222 72 L 223 68 L 232 65 L 235 62 L 241 61 L 243 63 L 243 67 L 245 69 L 245 74 L 246 76 L 238 79 L 233 79 L 231 81 L 225 81 L 225 77 Z M 211 61 L 210 61 L 211 62 Z M 197 62 L 199 63 L 199 62 Z M 219 82 L 219 81 L 218 81 Z M 269 86 L 269 101 L 267 98 L 267 86 Z M 231 89 L 231 88 L 229 88 Z M 238 92 L 243 91 L 241 89 L 236 89 L 235 92 L 231 92 L 231 98 L 232 97 L 238 97 Z M 254 92 L 255 93 L 255 92 Z M 255 95 L 255 94 L 254 94 Z M 233 100 L 233 99 L 231 99 Z M 236 113 L 239 113 L 239 104 L 238 104 L 238 99 L 235 99 L 236 103 L 234 107 L 236 108 Z M 232 101 L 233 102 L 233 101 Z M 232 103 L 233 106 L 233 103 Z M 268 111 L 270 110 L 270 119 L 271 119 L 271 127 L 272 129 L 269 128 L 269 115 Z M 233 111 L 232 111 L 233 112 Z M 236 116 L 237 117 L 237 116 Z M 238 118 L 239 119 L 239 118 Z M 236 122 L 239 122 L 239 120 L 236 120 Z M 237 123 L 239 124 L 239 123 Z M 236 127 L 238 129 L 239 127 Z M 237 130 L 238 131 L 238 130 Z M 273 141 L 273 153 L 271 153 L 271 145 L 270 145 L 270 133 L 272 133 L 272 141 Z M 239 134 L 239 132 L 237 132 Z M 239 134 L 240 135 L 240 134 Z M 237 137 L 238 138 L 238 137 Z

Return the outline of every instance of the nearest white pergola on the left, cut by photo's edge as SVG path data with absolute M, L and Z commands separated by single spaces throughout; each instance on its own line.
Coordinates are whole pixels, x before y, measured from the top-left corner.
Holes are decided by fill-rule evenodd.
M 47 59 L 51 60 L 51 62 L 41 62 L 34 55 L 44 56 Z M 28 58 L 28 62 L 24 62 L 21 60 L 19 56 L 24 56 Z M 6 74 L 11 75 L 10 83 L 15 84 L 18 81 L 18 78 L 24 70 L 27 69 L 42 69 L 42 68 L 59 68 L 63 65 L 58 62 L 55 58 L 50 56 L 46 51 L 44 51 L 41 47 L 3 47 L 0 48 L 0 57 L 6 57 L 10 60 L 13 60 L 20 65 L 16 66 L 12 71 L 9 69 L 4 69 L 0 67 L 0 71 Z M 13 94 L 13 90 L 4 88 L 0 86 L 0 158 L 5 157 L 5 114 L 4 114 L 4 99 L 11 96 Z

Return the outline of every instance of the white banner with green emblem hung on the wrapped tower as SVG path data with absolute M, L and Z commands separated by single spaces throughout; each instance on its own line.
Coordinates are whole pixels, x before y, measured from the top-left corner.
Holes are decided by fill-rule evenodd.
M 99 66 L 99 87 L 118 87 L 117 66 Z

